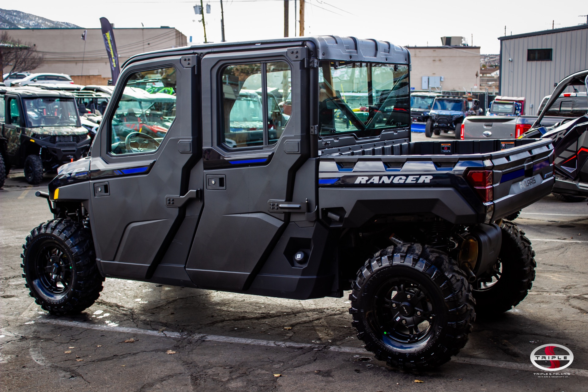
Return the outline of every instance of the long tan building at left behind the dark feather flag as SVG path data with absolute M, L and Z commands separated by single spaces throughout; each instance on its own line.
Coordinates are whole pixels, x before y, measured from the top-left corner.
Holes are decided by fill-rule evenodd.
M 106 55 L 101 29 L 0 29 L 14 39 L 30 42 L 42 53 L 45 63 L 31 72 L 55 72 L 71 75 L 81 85 L 106 85 L 111 69 Z M 175 28 L 114 29 L 116 49 L 122 64 L 132 55 L 159 49 L 185 46 L 186 36 Z M 84 43 L 86 45 L 84 50 Z M 5 66 L 4 72 L 10 70 Z

